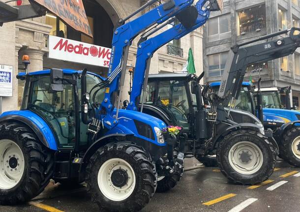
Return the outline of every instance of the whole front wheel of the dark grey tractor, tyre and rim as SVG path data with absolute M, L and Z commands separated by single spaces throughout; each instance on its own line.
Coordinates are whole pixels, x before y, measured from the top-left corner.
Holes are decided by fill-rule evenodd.
M 273 173 L 277 153 L 263 134 L 240 129 L 226 135 L 217 149 L 221 172 L 232 182 L 257 184 Z

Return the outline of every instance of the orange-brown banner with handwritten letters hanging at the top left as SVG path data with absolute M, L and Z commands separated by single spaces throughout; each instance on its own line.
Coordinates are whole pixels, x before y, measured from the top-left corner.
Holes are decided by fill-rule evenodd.
M 66 24 L 90 37 L 92 32 L 82 0 L 32 0 L 56 14 Z

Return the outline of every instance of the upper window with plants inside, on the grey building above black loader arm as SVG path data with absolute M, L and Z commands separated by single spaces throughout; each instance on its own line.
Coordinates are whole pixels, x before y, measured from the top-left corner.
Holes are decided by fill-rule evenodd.
M 258 5 L 238 11 L 238 35 L 266 29 L 266 5 Z

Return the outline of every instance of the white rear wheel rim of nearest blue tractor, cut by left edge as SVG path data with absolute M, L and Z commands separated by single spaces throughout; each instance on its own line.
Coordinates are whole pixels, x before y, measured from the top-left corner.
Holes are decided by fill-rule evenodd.
M 24 155 L 20 147 L 11 140 L 0 140 L 0 189 L 15 187 L 23 176 L 24 167 Z

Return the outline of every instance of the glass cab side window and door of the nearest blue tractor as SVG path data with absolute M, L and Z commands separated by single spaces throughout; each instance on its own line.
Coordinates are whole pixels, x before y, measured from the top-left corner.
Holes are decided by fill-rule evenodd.
M 65 76 L 66 77 L 66 76 Z M 53 91 L 49 76 L 32 83 L 29 109 L 43 117 L 57 135 L 59 148 L 75 146 L 74 86 L 63 82 L 63 91 Z

